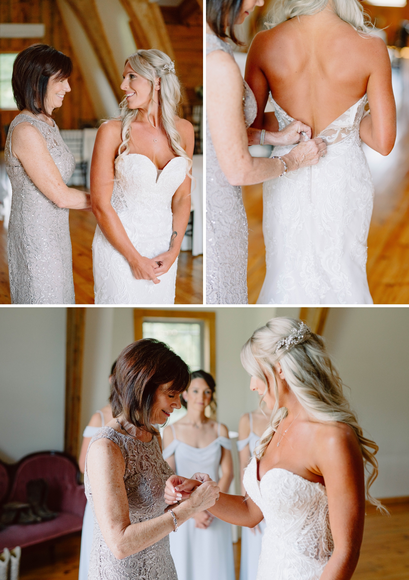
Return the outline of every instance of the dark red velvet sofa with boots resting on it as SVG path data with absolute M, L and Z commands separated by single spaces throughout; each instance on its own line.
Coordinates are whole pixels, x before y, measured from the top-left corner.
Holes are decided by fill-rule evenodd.
M 14 466 L 0 464 L 0 504 L 25 502 L 27 481 L 40 477 L 48 483 L 47 507 L 58 516 L 37 524 L 9 525 L 0 531 L 0 552 L 15 546 L 26 548 L 82 529 L 86 497 L 84 484 L 78 483 L 78 465 L 57 451 L 27 455 Z

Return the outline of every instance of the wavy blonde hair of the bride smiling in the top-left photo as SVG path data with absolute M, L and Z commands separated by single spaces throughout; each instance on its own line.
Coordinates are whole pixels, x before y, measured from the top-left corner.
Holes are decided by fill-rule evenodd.
M 176 108 L 180 103 L 180 82 L 175 73 L 165 69 L 166 65 L 171 66 L 172 60 L 161 50 L 151 48 L 149 50 L 136 50 L 133 55 L 128 56 L 126 63 L 131 65 L 132 70 L 141 77 L 146 78 L 151 85 L 151 102 L 148 108 L 148 118 L 154 105 L 155 81 L 161 79 L 159 90 L 159 106 L 161 109 L 161 122 L 169 139 L 169 146 L 173 153 L 179 157 L 184 157 L 187 162 L 187 175 L 191 178 L 192 160 L 180 145 L 180 133 L 176 129 L 175 115 Z M 125 64 L 126 64 L 125 63 Z M 129 141 L 131 140 L 131 123 L 135 121 L 138 109 L 128 108 L 126 96 L 120 103 L 121 109 L 121 137 L 122 143 L 118 148 L 118 157 L 115 160 L 115 168 L 118 162 L 128 155 Z

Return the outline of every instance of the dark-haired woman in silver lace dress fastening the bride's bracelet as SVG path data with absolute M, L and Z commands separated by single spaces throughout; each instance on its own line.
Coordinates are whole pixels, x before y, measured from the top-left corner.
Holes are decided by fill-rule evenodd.
M 220 491 L 205 481 L 166 511 L 165 484 L 173 472 L 154 425 L 180 408 L 179 394 L 189 383 L 189 367 L 158 340 L 138 340 L 118 357 L 110 394 L 114 419 L 93 436 L 85 460 L 94 514 L 88 580 L 177 580 L 168 535 L 214 505 Z

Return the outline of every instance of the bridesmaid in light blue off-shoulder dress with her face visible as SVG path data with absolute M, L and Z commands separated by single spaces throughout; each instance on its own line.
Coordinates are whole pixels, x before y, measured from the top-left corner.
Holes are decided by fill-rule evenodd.
M 208 473 L 213 481 L 218 481 L 220 490 L 227 492 L 233 478 L 231 441 L 221 434 L 222 430 L 228 434 L 227 427 L 204 414 L 213 394 L 208 383 L 214 391 L 211 375 L 204 371 L 192 374 L 189 390 L 187 394 L 183 393 L 187 398 L 187 415 L 165 429 L 164 444 L 167 447 L 163 456 L 175 473 L 188 476 L 197 472 Z M 208 445 L 195 446 L 207 443 L 212 437 L 213 441 Z M 169 536 L 178 580 L 234 580 L 231 525 L 209 512 L 197 516 L 180 525 L 177 534 Z

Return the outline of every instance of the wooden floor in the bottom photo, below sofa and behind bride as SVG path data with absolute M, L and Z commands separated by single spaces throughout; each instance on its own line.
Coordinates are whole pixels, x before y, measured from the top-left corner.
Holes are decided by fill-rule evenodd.
M 368 513 L 365 518 L 364 541 L 353 580 L 409 578 L 409 503 L 397 503 L 388 507 L 390 516 Z M 21 556 L 20 579 L 78 580 L 80 545 L 80 534 L 56 541 L 54 563 L 50 556 L 49 544 L 24 549 Z M 238 580 L 240 540 L 233 544 L 233 548 Z

